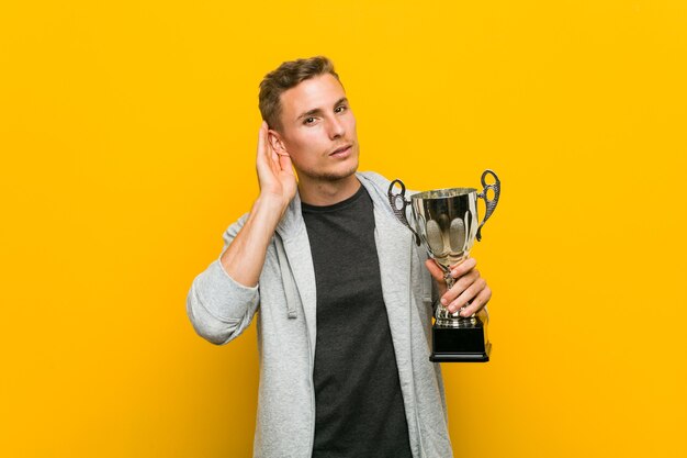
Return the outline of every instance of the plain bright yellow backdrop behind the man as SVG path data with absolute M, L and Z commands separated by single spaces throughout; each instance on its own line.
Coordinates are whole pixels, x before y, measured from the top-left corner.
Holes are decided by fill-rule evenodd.
M 257 196 L 257 86 L 331 57 L 361 169 L 503 197 L 458 457 L 685 457 L 687 3 L 0 5 L 0 456 L 247 457 L 255 327 L 185 294 Z

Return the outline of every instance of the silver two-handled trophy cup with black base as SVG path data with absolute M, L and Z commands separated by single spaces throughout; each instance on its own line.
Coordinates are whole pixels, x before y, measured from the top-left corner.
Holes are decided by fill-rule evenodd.
M 486 178 L 492 176 L 494 183 L 487 185 Z M 394 187 L 401 186 L 401 192 L 394 193 Z M 451 269 L 465 260 L 475 242 L 482 239 L 482 226 L 492 216 L 498 196 L 500 180 L 492 170 L 482 174 L 481 193 L 474 188 L 433 189 L 418 192 L 406 200 L 406 188 L 396 179 L 388 187 L 388 202 L 396 217 L 415 235 L 415 243 L 425 246 L 428 255 L 443 270 L 447 288 L 453 286 Z M 493 197 L 487 196 L 492 191 Z M 486 212 L 484 220 L 477 224 L 477 199 L 484 199 Z M 406 206 L 413 210 L 415 228 L 406 217 Z M 462 310 L 462 309 L 461 309 Z M 435 312 L 435 324 L 431 328 L 433 362 L 482 361 L 489 360 L 492 344 L 488 340 L 486 326 L 488 315 L 484 309 L 472 316 L 460 316 L 438 303 Z

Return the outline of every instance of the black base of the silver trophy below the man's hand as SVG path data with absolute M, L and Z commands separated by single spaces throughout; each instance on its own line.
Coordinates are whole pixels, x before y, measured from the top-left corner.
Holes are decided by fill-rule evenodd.
M 484 322 L 475 316 L 472 324 L 464 327 L 431 327 L 432 362 L 486 362 L 489 360 L 492 344 L 486 337 Z

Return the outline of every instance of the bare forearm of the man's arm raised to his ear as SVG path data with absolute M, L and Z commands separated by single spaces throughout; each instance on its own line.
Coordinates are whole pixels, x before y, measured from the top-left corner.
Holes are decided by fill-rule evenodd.
M 236 282 L 246 287 L 258 284 L 267 248 L 284 210 L 280 199 L 261 194 L 256 200 L 246 224 L 219 259 Z

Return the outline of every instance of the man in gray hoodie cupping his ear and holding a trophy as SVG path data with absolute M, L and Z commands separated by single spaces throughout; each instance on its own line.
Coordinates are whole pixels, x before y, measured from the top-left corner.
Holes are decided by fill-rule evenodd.
M 390 181 L 356 171 L 356 118 L 328 59 L 282 64 L 259 99 L 260 194 L 188 297 L 193 326 L 214 344 L 260 306 L 255 456 L 451 457 L 429 361 L 432 295 L 451 311 L 471 301 L 468 316 L 489 288 L 470 258 L 447 291 L 396 221 Z

